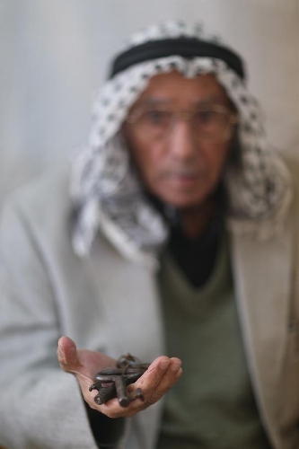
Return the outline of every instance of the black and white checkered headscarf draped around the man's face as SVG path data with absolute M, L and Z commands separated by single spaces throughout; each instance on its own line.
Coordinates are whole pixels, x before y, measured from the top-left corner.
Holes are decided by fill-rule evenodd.
M 174 69 L 186 77 L 214 74 L 239 112 L 242 163 L 224 173 L 230 227 L 259 238 L 282 227 L 291 182 L 284 164 L 268 151 L 259 104 L 246 87 L 241 58 L 200 24 L 163 22 L 126 42 L 96 95 L 89 142 L 72 171 L 77 254 L 89 253 L 100 228 L 131 260 L 150 260 L 149 254 L 166 240 L 167 225 L 146 200 L 119 129 L 149 79 Z

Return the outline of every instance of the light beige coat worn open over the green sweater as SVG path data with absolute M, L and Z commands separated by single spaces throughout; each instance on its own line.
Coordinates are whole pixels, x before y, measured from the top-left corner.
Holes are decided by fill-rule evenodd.
M 153 269 L 124 260 L 101 236 L 89 260 L 77 258 L 70 211 L 67 180 L 59 174 L 14 194 L 2 216 L 0 445 L 12 449 L 96 448 L 75 378 L 57 365 L 61 335 L 112 357 L 129 351 L 150 361 L 163 354 Z M 293 219 L 269 242 L 232 236 L 253 389 L 276 449 L 299 448 L 292 226 Z M 119 447 L 154 449 L 161 405 L 128 419 Z

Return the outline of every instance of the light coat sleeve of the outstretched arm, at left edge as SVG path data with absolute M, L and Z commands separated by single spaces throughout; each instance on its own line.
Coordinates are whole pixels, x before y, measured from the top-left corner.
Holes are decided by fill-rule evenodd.
M 60 370 L 59 318 L 45 261 L 21 208 L 0 222 L 0 445 L 96 449 L 75 376 Z

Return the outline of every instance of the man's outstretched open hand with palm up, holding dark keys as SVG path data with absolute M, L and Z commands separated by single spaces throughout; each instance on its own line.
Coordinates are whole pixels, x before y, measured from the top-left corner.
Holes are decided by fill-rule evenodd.
M 179 379 L 182 373 L 181 362 L 176 357 L 157 357 L 148 367 L 136 383 L 128 386 L 128 392 L 141 388 L 145 395 L 145 401 L 137 399 L 130 402 L 128 407 L 119 405 L 117 398 L 102 405 L 93 401 L 96 391 L 90 392 L 89 387 L 94 383 L 95 374 L 99 371 L 116 366 L 116 360 L 87 349 L 77 349 L 75 342 L 68 337 L 61 337 L 58 341 L 57 357 L 61 369 L 66 373 L 75 374 L 84 395 L 84 401 L 92 409 L 101 411 L 110 418 L 132 417 L 142 409 L 159 401 Z

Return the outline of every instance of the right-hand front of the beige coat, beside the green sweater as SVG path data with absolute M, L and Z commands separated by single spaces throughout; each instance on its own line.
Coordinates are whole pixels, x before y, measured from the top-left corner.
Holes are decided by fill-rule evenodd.
M 268 242 L 232 237 L 233 272 L 243 340 L 259 411 L 279 448 L 279 381 L 291 296 L 291 233 Z

